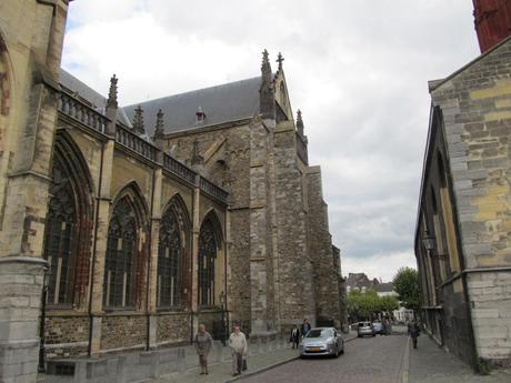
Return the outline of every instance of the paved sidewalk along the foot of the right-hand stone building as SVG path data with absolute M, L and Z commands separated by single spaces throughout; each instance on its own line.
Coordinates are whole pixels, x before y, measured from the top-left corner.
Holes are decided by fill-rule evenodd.
M 418 347 L 408 342 L 409 359 L 403 361 L 402 383 L 510 383 L 511 371 L 477 375 L 472 369 L 443 351 L 428 335 L 419 337 Z M 407 354 L 407 353 L 405 353 Z M 408 367 L 408 371 L 407 371 Z

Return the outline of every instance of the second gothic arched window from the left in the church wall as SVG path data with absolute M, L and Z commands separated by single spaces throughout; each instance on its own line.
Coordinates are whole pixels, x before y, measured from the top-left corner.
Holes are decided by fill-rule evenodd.
M 113 209 L 108 230 L 103 304 L 107 308 L 134 305 L 137 275 L 137 218 L 132 203 L 123 196 Z

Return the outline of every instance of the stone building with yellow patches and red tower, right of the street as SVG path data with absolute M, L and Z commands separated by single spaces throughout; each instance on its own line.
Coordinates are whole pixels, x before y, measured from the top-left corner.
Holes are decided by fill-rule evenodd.
M 511 365 L 511 12 L 474 7 L 483 53 L 430 82 L 414 246 L 427 331 L 499 366 Z

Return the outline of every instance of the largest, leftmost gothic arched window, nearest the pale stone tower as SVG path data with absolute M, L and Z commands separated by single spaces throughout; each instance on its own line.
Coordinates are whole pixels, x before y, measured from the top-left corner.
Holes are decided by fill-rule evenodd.
M 44 234 L 44 259 L 50 264 L 48 303 L 71 304 L 77 243 L 77 196 L 61 159 L 53 161 L 53 184 Z

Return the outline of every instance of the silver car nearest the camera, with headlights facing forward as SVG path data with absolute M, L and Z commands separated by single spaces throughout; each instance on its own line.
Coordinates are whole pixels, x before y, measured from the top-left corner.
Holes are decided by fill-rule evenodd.
M 344 340 L 334 327 L 314 327 L 302 337 L 300 356 L 332 355 L 344 353 Z

